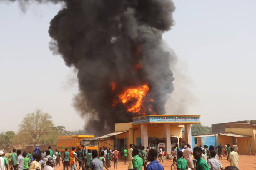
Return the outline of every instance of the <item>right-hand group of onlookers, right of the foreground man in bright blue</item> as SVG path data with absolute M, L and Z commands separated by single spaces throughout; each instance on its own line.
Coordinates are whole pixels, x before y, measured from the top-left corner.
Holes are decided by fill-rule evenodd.
M 222 153 L 221 144 L 214 148 L 214 146 L 205 145 L 204 147 L 197 146 L 194 149 L 191 149 L 191 145 L 187 144 L 187 146 L 182 146 L 183 149 L 178 147 L 178 144 L 174 146 L 174 152 L 172 154 L 173 162 L 177 164 L 178 170 L 185 169 L 196 169 L 196 170 L 224 170 L 221 162 L 218 160 L 215 149 L 218 149 L 218 154 Z M 224 153 L 224 157 L 227 155 L 227 160 L 230 162 L 230 166 L 226 167 L 225 170 L 238 170 L 238 147 L 234 144 L 232 147 L 227 143 L 225 150 L 227 148 L 227 152 Z M 221 159 L 221 155 L 219 154 L 219 158 Z M 195 159 L 195 160 L 194 160 Z M 159 161 L 161 161 L 159 159 Z M 195 162 L 195 166 L 194 166 Z

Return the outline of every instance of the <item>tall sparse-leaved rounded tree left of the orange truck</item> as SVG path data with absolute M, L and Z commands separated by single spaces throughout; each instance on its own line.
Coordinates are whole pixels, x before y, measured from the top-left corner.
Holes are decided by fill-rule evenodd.
M 19 132 L 26 132 L 32 137 L 32 144 L 36 145 L 43 135 L 47 135 L 53 129 L 53 122 L 49 113 L 36 109 L 28 113 L 19 125 Z M 22 134 L 22 133 L 21 133 Z

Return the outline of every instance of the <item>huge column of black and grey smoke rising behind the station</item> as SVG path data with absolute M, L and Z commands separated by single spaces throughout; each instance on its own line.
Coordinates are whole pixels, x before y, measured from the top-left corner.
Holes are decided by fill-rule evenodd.
M 58 3 L 61 0 L 50 2 Z M 101 135 L 114 123 L 142 114 L 165 114 L 174 90 L 170 53 L 162 33 L 174 24 L 170 0 L 62 0 L 66 6 L 51 20 L 50 49 L 78 70 L 79 94 L 73 105 L 87 118 L 86 130 Z M 40 1 L 39 1 L 40 2 Z M 148 85 L 140 111 L 119 95 Z

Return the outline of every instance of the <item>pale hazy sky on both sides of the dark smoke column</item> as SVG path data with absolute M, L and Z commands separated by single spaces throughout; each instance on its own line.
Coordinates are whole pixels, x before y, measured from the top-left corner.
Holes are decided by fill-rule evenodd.
M 186 113 L 201 115 L 203 125 L 256 119 L 256 1 L 174 3 L 176 24 L 163 38 L 178 56 L 175 96 L 183 96 Z M 82 129 L 71 106 L 76 75 L 48 48 L 49 22 L 61 5 L 27 8 L 0 3 L 0 132 L 17 131 L 36 108 L 55 125 Z

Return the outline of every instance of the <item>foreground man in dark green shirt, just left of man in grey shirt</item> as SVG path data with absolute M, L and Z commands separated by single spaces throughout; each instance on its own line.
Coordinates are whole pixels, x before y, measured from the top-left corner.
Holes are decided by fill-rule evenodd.
M 194 158 L 197 159 L 196 170 L 210 170 L 207 162 L 202 158 L 202 152 L 203 151 L 201 147 L 199 146 L 194 147 L 193 155 L 194 155 Z

